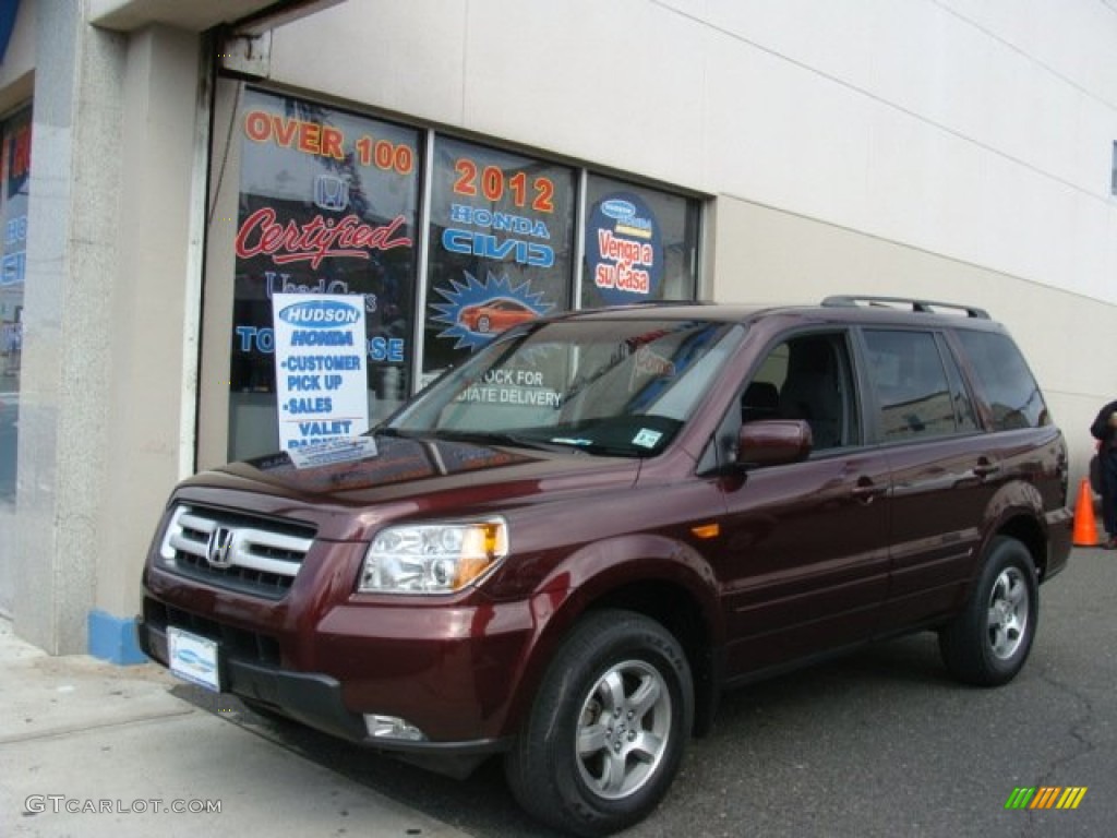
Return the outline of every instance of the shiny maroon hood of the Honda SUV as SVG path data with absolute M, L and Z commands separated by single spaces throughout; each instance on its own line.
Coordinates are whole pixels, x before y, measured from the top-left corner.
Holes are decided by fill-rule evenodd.
M 466 513 L 497 501 L 630 486 L 640 467 L 639 460 L 577 450 L 383 435 L 372 439 L 374 453 L 327 465 L 299 468 L 285 453 L 231 463 L 189 478 L 179 493 L 248 492 L 325 507 L 405 502 L 412 512 L 441 507 Z

